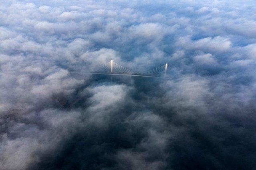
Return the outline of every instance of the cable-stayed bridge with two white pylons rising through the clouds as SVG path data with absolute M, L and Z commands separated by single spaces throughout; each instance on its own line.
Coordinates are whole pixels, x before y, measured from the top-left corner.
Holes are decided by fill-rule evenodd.
M 131 71 L 118 63 L 115 63 L 112 59 L 97 69 L 91 71 L 76 71 L 70 70 L 71 73 L 89 73 L 89 74 L 99 74 L 99 75 L 126 75 L 126 76 L 137 76 L 137 77 L 157 77 L 157 78 L 168 78 L 167 72 L 170 66 L 166 63 L 160 67 L 147 71 L 145 73 L 138 73 Z

